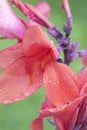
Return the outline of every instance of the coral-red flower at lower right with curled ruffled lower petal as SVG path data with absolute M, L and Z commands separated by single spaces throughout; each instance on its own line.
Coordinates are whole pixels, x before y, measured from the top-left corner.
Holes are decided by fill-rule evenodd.
M 39 117 L 31 123 L 31 130 L 43 130 L 45 117 L 53 117 L 57 130 L 73 130 L 79 104 L 83 102 L 87 93 L 87 79 L 84 75 L 87 75 L 87 70 L 77 75 L 63 63 L 47 64 L 43 77 L 47 98 Z

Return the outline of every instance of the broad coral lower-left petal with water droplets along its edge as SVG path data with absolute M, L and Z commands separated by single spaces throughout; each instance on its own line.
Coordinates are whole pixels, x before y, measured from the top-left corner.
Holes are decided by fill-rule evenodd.
M 40 70 L 37 70 L 35 80 L 31 84 L 26 68 L 27 59 L 22 57 L 0 75 L 0 103 L 12 103 L 22 100 L 34 93 L 42 84 Z

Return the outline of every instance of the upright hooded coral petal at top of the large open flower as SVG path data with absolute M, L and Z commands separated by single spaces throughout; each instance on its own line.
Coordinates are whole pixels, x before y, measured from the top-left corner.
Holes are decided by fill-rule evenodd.
M 36 25 L 30 26 L 26 31 L 23 39 L 23 51 L 27 56 L 44 55 L 50 51 L 53 51 L 55 57 L 58 58 L 59 56 L 52 41 L 50 41 L 46 33 Z

